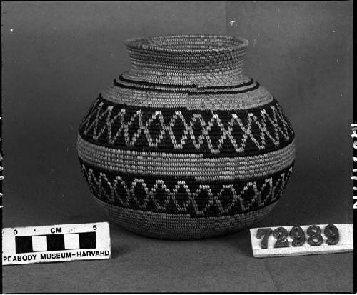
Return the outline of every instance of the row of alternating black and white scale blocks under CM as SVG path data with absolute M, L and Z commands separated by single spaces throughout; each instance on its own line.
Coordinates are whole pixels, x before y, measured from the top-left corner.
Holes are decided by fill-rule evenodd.
M 67 249 L 95 249 L 96 232 L 15 236 L 16 254 Z

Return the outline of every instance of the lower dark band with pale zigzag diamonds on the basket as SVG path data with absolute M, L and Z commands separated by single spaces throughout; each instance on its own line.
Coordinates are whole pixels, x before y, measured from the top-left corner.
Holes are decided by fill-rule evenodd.
M 250 181 L 196 181 L 191 177 L 113 173 L 79 161 L 91 193 L 101 201 L 191 217 L 236 215 L 273 204 L 283 194 L 293 167 Z

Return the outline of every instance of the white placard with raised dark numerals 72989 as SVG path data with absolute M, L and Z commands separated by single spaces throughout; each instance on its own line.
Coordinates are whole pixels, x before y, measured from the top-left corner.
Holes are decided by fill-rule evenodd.
M 312 224 L 251 229 L 254 257 L 353 251 L 353 224 Z

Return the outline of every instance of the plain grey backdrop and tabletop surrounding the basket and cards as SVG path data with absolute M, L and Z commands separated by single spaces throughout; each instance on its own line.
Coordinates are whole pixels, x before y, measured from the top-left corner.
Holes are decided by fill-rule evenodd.
M 4 227 L 106 221 L 76 158 L 99 91 L 129 70 L 123 41 L 233 34 L 246 73 L 296 131 L 283 199 L 256 226 L 352 216 L 352 1 L 2 2 Z M 4 292 L 352 291 L 353 254 L 253 259 L 248 231 L 160 241 L 111 225 L 113 259 L 5 266 Z

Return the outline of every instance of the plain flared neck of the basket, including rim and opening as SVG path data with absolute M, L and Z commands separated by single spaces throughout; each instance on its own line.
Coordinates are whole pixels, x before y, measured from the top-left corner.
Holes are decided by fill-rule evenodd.
M 219 75 L 242 73 L 248 41 L 228 36 L 163 36 L 129 39 L 126 46 L 131 71 Z

